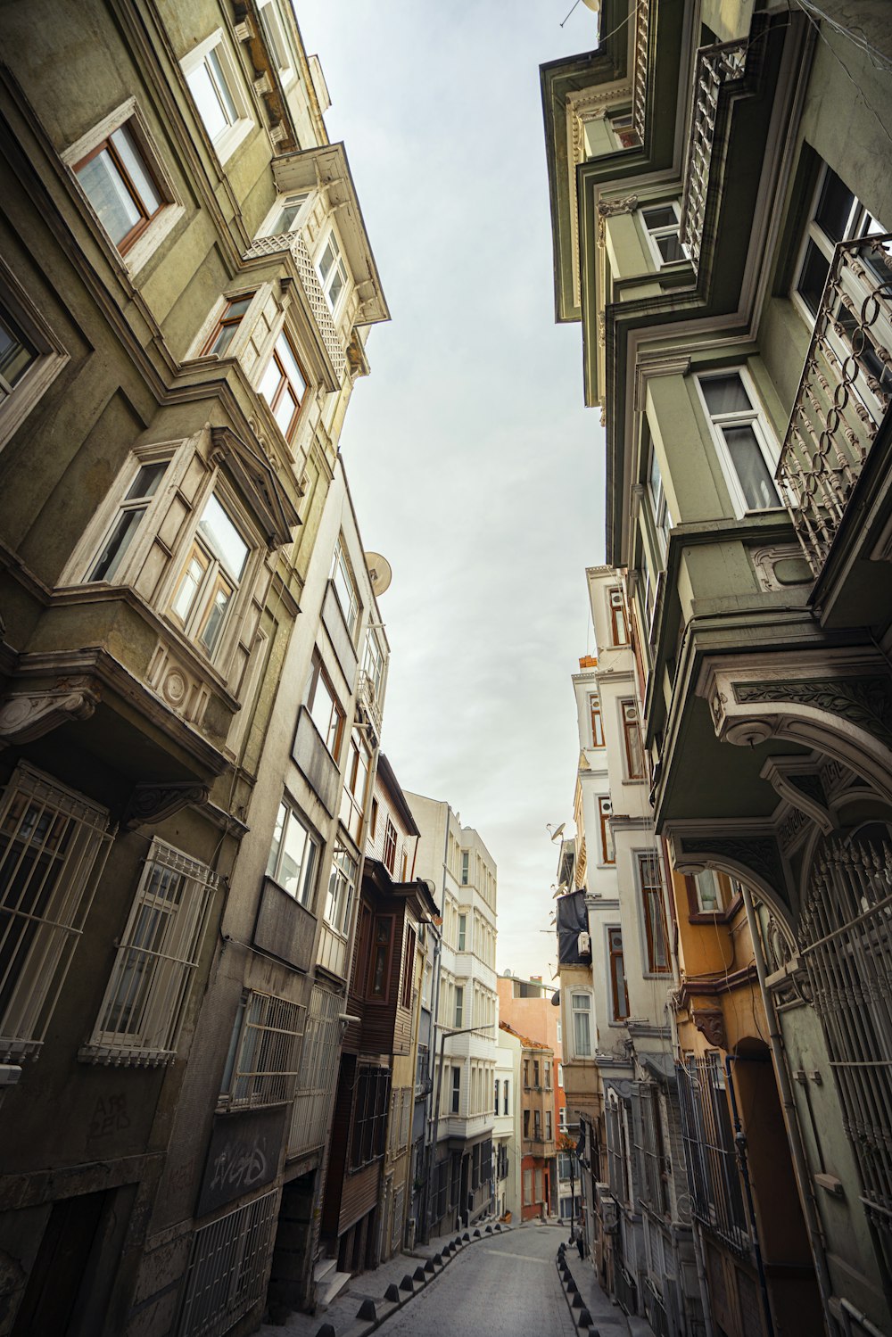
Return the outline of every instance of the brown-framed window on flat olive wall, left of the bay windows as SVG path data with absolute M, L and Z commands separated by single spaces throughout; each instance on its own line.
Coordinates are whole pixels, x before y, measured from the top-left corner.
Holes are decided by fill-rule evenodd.
M 72 166 L 99 222 L 122 255 L 166 203 L 140 140 L 138 123 L 131 118 Z

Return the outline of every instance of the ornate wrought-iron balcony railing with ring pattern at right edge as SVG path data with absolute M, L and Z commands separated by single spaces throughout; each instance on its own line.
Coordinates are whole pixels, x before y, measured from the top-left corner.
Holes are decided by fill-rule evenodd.
M 892 398 L 892 233 L 841 242 L 777 467 L 818 575 Z

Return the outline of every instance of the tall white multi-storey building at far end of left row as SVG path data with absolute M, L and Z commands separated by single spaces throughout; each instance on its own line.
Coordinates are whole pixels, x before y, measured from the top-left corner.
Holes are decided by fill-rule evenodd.
M 405 797 L 421 832 L 416 876 L 433 882 L 443 915 L 428 1218 L 436 1233 L 440 1222 L 449 1229 L 493 1207 L 496 866 L 477 833 L 461 826 L 448 802 L 408 790 Z

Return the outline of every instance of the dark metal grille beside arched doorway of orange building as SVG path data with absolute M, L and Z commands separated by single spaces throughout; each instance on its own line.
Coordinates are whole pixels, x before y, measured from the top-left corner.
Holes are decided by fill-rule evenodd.
M 678 1067 L 682 1138 L 694 1215 L 736 1253 L 750 1249 L 734 1135 L 718 1055 Z

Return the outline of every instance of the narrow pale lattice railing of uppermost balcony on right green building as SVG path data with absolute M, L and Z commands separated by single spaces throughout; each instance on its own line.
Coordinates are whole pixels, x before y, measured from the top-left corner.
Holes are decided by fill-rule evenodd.
M 714 47 L 701 47 L 694 70 L 694 100 L 687 135 L 685 166 L 685 193 L 678 235 L 690 249 L 694 266 L 699 263 L 703 239 L 706 194 L 713 160 L 713 139 L 718 95 L 722 84 L 742 79 L 746 71 L 746 41 L 719 41 Z

